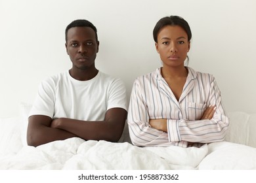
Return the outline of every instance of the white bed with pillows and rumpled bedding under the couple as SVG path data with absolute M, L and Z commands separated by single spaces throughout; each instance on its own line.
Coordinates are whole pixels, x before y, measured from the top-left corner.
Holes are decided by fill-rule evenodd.
M 200 148 L 133 146 L 127 124 L 116 143 L 71 138 L 35 148 L 26 144 L 30 108 L 21 103 L 19 116 L 0 119 L 1 170 L 256 169 L 256 114 L 229 112 L 225 141 Z

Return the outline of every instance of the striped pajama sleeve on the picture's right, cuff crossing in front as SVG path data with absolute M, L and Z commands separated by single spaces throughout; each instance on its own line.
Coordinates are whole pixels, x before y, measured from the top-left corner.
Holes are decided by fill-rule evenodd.
M 212 76 L 209 84 L 208 104 L 216 105 L 217 109 L 211 120 L 167 120 L 169 141 L 218 142 L 226 135 L 229 119 L 221 102 L 221 92 Z M 209 106 L 209 105 L 207 105 Z

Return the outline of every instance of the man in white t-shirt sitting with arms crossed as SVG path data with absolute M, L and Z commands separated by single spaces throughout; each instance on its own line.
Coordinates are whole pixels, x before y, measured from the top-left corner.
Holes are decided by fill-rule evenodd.
M 41 82 L 28 118 L 28 145 L 71 137 L 117 142 L 127 117 L 125 85 L 96 69 L 99 41 L 91 22 L 75 20 L 65 34 L 72 68 Z

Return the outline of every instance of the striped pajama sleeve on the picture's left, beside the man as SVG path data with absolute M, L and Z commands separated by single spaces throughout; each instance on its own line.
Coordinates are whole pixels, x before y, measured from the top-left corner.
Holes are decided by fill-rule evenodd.
M 186 146 L 186 142 L 169 142 L 168 134 L 150 127 L 147 104 L 144 102 L 143 89 L 135 80 L 131 92 L 127 122 L 133 144 L 137 146 Z

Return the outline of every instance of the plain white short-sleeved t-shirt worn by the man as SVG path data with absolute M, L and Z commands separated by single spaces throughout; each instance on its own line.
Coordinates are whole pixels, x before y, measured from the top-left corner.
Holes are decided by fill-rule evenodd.
M 102 121 L 106 111 L 116 107 L 127 110 L 123 81 L 100 71 L 80 81 L 66 71 L 41 82 L 30 116 Z

